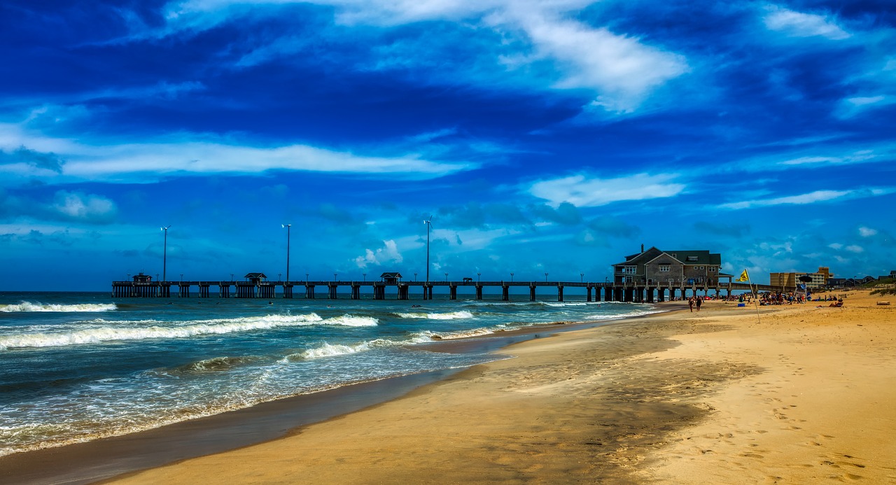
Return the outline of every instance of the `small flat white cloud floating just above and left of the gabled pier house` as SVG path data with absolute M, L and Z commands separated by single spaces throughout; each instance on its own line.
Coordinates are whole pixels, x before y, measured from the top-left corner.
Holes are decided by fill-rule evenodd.
M 636 174 L 622 178 L 586 178 L 573 175 L 542 180 L 528 187 L 531 195 L 546 199 L 553 206 L 564 202 L 576 207 L 595 207 L 619 201 L 672 197 L 685 190 L 684 184 L 673 181 L 675 175 Z

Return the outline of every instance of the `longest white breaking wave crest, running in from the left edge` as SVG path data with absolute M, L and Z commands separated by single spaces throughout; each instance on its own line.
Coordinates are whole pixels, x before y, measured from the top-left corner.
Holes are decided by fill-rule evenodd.
M 56 347 L 86 343 L 144 339 L 180 339 L 216 333 L 251 332 L 280 326 L 297 325 L 376 325 L 376 319 L 364 316 L 336 316 L 324 320 L 315 313 L 308 315 L 268 315 L 215 320 L 194 320 L 185 325 L 134 326 L 134 322 L 93 320 L 107 325 L 59 333 L 21 333 L 0 337 L 0 351 L 23 347 Z M 152 321 L 154 322 L 154 321 Z M 160 323 L 160 322 L 157 322 Z M 129 325 L 129 326 L 119 326 Z

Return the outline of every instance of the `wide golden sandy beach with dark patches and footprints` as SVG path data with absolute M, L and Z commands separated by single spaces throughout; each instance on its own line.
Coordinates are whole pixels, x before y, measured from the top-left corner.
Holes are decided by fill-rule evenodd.
M 116 483 L 896 483 L 896 310 L 709 302 Z

